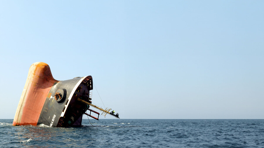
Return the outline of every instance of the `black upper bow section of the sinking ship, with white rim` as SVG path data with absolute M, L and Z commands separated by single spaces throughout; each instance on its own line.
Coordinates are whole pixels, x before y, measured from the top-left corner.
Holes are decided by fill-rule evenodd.
M 92 76 L 59 81 L 50 89 L 37 125 L 80 126 L 82 114 L 89 105 L 78 101 L 77 98 L 89 101 L 89 90 L 92 89 Z

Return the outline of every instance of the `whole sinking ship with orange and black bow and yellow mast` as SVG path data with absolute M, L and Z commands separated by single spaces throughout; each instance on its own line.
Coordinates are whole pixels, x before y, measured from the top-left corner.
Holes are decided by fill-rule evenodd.
M 33 63 L 18 103 L 13 126 L 81 126 L 84 114 L 99 119 L 100 113 L 92 109 L 102 111 L 104 116 L 109 114 L 119 118 L 114 110 L 110 112 L 111 109 L 102 109 L 92 104 L 92 89 L 92 76 L 57 81 L 48 64 Z

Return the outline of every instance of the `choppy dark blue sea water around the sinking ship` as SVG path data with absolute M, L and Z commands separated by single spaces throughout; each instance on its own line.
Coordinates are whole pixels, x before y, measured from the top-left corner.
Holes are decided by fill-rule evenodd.
M 82 127 L 12 126 L 0 147 L 264 147 L 264 119 L 84 119 Z

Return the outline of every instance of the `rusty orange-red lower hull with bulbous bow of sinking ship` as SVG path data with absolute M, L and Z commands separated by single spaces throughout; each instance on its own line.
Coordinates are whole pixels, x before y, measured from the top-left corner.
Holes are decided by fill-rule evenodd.
M 48 64 L 36 62 L 31 65 L 23 89 L 13 125 L 37 125 L 45 99 L 54 83 Z

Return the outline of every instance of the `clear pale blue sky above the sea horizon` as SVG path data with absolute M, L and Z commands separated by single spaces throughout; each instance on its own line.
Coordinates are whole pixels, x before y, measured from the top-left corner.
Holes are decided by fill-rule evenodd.
M 59 81 L 92 75 L 122 119 L 264 119 L 263 7 L 0 1 L 0 119 L 14 118 L 34 62 Z M 95 87 L 92 102 L 103 107 Z

